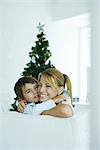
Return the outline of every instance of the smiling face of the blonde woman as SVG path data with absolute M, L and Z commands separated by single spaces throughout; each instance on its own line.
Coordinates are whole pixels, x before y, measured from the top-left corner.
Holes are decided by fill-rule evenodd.
M 45 77 L 43 76 L 40 78 L 38 93 L 39 93 L 40 101 L 46 101 L 58 95 L 57 89 L 53 88 L 52 85 L 50 85 L 50 83 L 48 83 L 45 80 Z

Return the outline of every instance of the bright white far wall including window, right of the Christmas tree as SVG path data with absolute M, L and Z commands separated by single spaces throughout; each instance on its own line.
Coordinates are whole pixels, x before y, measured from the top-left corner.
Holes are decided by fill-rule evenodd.
M 86 103 L 89 94 L 90 14 L 55 21 L 50 30 L 52 63 L 72 81 L 73 102 Z

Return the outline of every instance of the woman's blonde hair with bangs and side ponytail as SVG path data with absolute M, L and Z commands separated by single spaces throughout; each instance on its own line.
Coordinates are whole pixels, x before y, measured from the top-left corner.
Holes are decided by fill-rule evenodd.
M 38 79 L 40 80 L 41 76 L 45 77 L 45 80 L 50 83 L 54 88 L 58 88 L 60 86 L 67 87 L 67 93 L 71 98 L 72 103 L 72 86 L 70 78 L 61 73 L 59 70 L 55 68 L 49 68 L 39 74 Z

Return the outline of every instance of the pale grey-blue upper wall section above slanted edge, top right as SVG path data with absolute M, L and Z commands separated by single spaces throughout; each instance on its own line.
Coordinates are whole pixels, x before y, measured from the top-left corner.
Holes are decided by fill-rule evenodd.
M 62 20 L 87 12 L 89 12 L 89 0 L 53 0 L 54 20 Z

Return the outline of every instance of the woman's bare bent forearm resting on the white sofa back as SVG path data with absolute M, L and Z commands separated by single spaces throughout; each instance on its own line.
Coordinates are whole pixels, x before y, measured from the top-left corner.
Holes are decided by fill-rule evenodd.
M 68 118 L 73 116 L 73 110 L 68 104 L 58 104 L 56 107 L 51 108 L 41 113 L 41 115 L 50 115 L 61 118 Z

